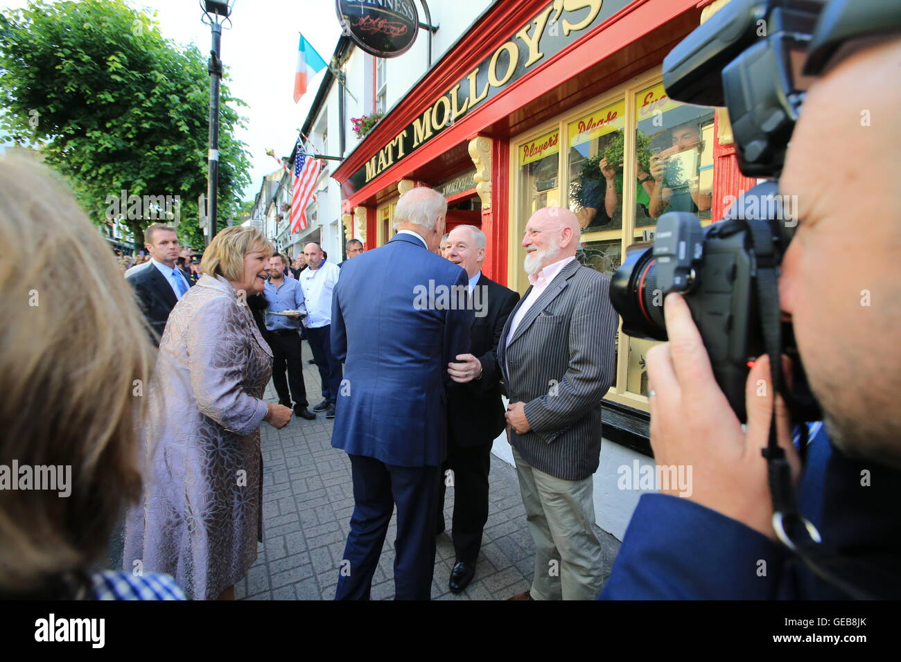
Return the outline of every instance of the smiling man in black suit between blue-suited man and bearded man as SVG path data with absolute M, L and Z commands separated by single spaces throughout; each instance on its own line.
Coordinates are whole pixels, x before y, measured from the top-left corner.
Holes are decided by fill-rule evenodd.
M 497 341 L 519 295 L 482 274 L 485 233 L 459 225 L 448 235 L 446 257 L 466 269 L 469 301 L 475 309 L 470 330 L 471 354 L 461 354 L 448 372 L 456 384 L 448 389 L 448 458 L 442 467 L 438 532 L 444 531 L 444 491 L 454 488 L 453 538 L 456 562 L 450 588 L 460 593 L 476 575 L 482 530 L 488 519 L 488 471 L 491 446 L 505 428 Z

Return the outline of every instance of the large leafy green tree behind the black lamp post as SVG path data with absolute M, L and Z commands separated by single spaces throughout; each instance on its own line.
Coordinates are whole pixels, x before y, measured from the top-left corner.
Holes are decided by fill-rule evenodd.
M 225 85 L 221 99 L 219 228 L 238 215 L 250 183 L 247 146 L 234 138 L 246 104 Z M 197 200 L 206 193 L 209 74 L 200 51 L 163 38 L 152 16 L 123 0 L 38 0 L 0 12 L 0 103 L 0 129 L 39 145 L 95 222 L 134 215 L 113 202 L 123 190 L 151 202 L 177 195 L 181 240 L 204 245 Z M 136 248 L 149 215 L 125 220 Z

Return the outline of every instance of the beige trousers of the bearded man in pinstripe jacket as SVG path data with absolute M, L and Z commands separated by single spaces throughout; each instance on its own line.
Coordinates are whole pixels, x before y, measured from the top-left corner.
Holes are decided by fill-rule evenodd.
M 563 480 L 530 466 L 516 449 L 513 457 L 535 542 L 532 599 L 594 600 L 603 576 L 591 476 Z

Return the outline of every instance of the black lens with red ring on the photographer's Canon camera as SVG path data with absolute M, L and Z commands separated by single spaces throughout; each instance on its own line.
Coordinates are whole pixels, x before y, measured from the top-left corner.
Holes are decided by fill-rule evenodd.
M 663 294 L 657 286 L 657 260 L 651 243 L 626 249 L 623 265 L 610 279 L 610 301 L 623 317 L 623 333 L 634 338 L 667 340 Z

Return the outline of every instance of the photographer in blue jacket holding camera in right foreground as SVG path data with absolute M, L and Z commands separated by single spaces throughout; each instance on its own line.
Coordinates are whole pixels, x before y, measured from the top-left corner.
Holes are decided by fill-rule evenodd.
M 839 47 L 807 91 L 780 180 L 782 194 L 796 195 L 800 221 L 781 264 L 780 305 L 832 442 L 824 464 L 808 460 L 798 497 L 802 512 L 822 499 L 815 523 L 834 553 L 826 567 L 843 583 L 808 570 L 773 528 L 760 452 L 773 410 L 773 389 L 760 388 L 769 386 L 769 359 L 748 376 L 742 430 L 685 300 L 671 294 L 669 342 L 647 357 L 651 445 L 659 465 L 693 467 L 693 491 L 642 496 L 602 598 L 901 597 L 901 226 L 887 213 L 901 166 L 901 87 L 890 83 L 899 61 L 897 32 Z M 834 174 L 839 154 L 851 164 L 842 183 Z M 836 256 L 851 273 L 837 268 Z M 781 398 L 776 405 L 779 445 L 797 476 Z

